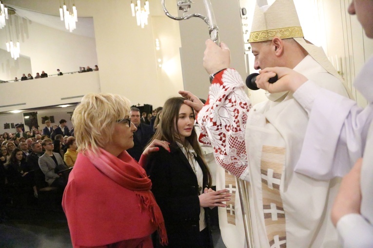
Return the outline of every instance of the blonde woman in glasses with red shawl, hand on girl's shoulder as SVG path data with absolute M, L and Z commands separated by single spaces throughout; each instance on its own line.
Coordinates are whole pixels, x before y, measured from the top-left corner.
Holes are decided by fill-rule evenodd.
M 164 142 L 154 141 L 139 163 L 126 149 L 136 127 L 130 104 L 117 94 L 91 93 L 75 108 L 72 122 L 78 158 L 63 194 L 71 240 L 77 247 L 152 248 L 151 233 L 167 244 L 162 213 L 140 164 Z

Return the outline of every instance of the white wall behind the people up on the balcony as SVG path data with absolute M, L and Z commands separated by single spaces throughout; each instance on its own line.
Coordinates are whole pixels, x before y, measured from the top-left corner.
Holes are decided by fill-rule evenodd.
M 94 68 L 94 65 L 98 64 L 95 38 L 59 31 L 24 18 L 18 23 L 20 53 L 21 56 L 30 58 L 31 70 L 20 65 L 10 71 L 4 67 L 3 71 L 1 66 L 0 73 L 3 74 L 0 74 L 0 79 L 13 80 L 14 77 L 20 78 L 22 73 L 31 73 L 35 77 L 36 73 L 41 71 L 57 74 L 57 69 L 62 72 L 79 71 L 79 66 L 88 65 Z M 0 29 L 0 49 L 6 51 L 5 43 L 6 35 L 3 28 Z M 7 52 L 0 56 L 0 65 L 10 64 L 9 60 L 14 59 Z

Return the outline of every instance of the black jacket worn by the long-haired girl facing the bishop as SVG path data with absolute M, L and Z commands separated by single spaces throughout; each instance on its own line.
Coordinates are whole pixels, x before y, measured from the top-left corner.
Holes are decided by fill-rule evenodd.
M 146 172 L 152 180 L 152 192 L 163 214 L 168 247 L 198 248 L 196 236 L 199 234 L 200 206 L 196 174 L 177 144 L 170 145 L 170 149 L 171 152 L 168 152 L 160 147 L 159 151 L 152 153 L 146 164 Z M 197 157 L 197 161 L 202 164 L 201 158 Z M 202 188 L 207 187 L 207 181 L 207 173 L 203 171 Z M 209 210 L 205 208 L 205 221 L 210 247 L 213 247 Z

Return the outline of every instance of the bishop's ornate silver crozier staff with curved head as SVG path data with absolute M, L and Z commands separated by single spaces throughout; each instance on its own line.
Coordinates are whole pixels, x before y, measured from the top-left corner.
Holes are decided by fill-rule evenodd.
M 203 3 L 205 5 L 207 17 L 204 17 L 201 14 L 190 14 L 185 15 L 183 17 L 174 17 L 172 16 L 168 10 L 166 9 L 166 5 L 164 3 L 165 0 L 162 0 L 162 6 L 163 11 L 171 19 L 174 20 L 187 20 L 192 17 L 198 17 L 201 18 L 206 24 L 209 26 L 209 34 L 211 39 L 216 43 L 216 45 L 220 46 L 220 40 L 219 40 L 219 29 L 216 26 L 216 19 L 213 11 L 213 7 L 211 5 L 210 0 L 203 0 Z M 179 10 L 182 10 L 184 13 L 188 12 L 189 8 L 191 7 L 191 3 L 193 3 L 191 0 L 178 0 L 177 6 L 179 7 Z M 250 208 L 249 208 L 249 188 L 247 183 L 239 178 L 237 179 L 237 190 L 239 199 L 241 202 L 241 210 L 243 215 L 243 225 L 245 227 L 245 238 L 246 238 L 246 244 L 247 248 L 254 248 L 253 245 L 253 230 L 251 225 L 251 217 L 250 217 Z

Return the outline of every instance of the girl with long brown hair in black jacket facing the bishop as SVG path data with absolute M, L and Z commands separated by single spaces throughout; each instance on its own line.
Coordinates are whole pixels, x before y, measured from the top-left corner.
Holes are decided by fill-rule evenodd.
M 231 195 L 209 189 L 212 177 L 198 145 L 194 111 L 184 100 L 174 97 L 164 104 L 153 140 L 169 143 L 170 149 L 151 154 L 146 170 L 163 213 L 168 247 L 212 248 L 208 208 L 225 207 L 222 202 Z M 154 246 L 160 247 L 157 240 Z

